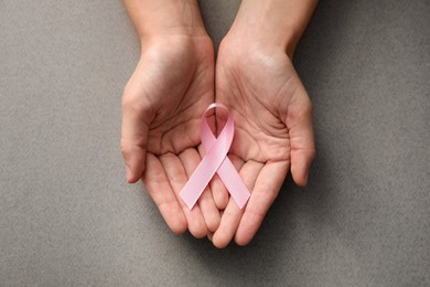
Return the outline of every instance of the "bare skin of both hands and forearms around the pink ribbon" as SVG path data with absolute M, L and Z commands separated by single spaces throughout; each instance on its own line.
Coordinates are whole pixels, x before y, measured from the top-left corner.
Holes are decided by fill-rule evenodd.
M 127 179 L 142 179 L 174 233 L 207 235 L 217 247 L 232 240 L 246 245 L 287 172 L 307 184 L 315 150 L 312 106 L 291 59 L 315 4 L 244 0 L 215 67 L 195 1 L 125 1 L 142 46 L 122 97 Z M 200 117 L 214 100 L 227 105 L 235 118 L 229 158 L 251 196 L 239 210 L 214 177 L 190 211 L 179 192 L 204 157 Z M 208 120 L 216 132 L 225 115 Z

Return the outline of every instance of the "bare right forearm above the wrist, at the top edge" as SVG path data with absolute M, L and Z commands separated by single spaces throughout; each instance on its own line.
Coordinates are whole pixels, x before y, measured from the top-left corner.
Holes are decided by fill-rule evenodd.
M 229 33 L 292 56 L 318 0 L 243 0 Z

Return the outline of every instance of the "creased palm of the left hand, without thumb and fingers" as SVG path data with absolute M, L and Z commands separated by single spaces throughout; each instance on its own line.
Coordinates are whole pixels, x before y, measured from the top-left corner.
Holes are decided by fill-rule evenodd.
M 182 44 L 181 49 L 151 47 L 142 53 L 128 83 L 127 88 L 136 94 L 131 100 L 140 102 L 133 106 L 146 106 L 150 153 L 178 155 L 200 142 L 198 115 L 214 97 L 212 46 L 207 42 L 201 45 L 197 50 Z

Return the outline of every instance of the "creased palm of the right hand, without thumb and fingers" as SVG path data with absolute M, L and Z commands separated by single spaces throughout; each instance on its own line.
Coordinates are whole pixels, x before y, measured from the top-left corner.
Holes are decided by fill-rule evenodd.
M 256 55 L 236 66 L 228 55 L 218 60 L 216 99 L 232 107 L 236 140 L 230 153 L 245 161 L 289 161 L 290 140 L 282 120 L 290 96 L 287 56 L 282 62 Z M 286 97 L 287 96 L 287 97 Z M 283 107 L 282 107 L 283 106 Z

